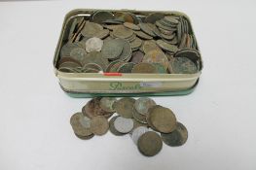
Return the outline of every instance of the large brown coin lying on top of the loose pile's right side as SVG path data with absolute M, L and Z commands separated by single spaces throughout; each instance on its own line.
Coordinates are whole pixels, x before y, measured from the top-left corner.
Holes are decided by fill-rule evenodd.
M 176 117 L 173 112 L 163 106 L 156 105 L 149 111 L 149 120 L 160 132 L 170 133 L 176 128 Z

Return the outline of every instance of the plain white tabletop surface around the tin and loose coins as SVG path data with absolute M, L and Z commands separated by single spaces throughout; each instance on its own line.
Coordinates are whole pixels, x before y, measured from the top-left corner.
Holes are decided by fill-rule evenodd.
M 0 169 L 256 169 L 256 1 L 0 3 Z M 65 95 L 53 71 L 64 15 L 75 8 L 186 13 L 204 68 L 196 91 L 156 97 L 189 130 L 185 146 L 145 157 L 129 136 L 82 141 L 70 116 L 89 99 Z

